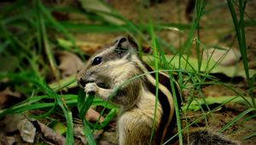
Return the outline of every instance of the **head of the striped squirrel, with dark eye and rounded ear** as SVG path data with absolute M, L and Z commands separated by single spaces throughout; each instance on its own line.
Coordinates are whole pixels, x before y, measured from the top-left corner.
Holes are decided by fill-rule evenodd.
M 131 38 L 117 38 L 112 45 L 90 57 L 77 75 L 79 85 L 84 87 L 85 84 L 96 83 L 102 88 L 111 88 L 114 78 L 125 71 L 120 68 L 134 56 L 137 56 L 137 44 Z

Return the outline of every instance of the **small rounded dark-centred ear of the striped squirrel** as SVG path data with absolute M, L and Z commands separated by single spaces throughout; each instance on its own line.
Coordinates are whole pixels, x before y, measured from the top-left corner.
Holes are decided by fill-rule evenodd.
M 127 53 L 137 53 L 137 44 L 130 37 L 120 37 L 114 41 L 114 52 L 120 57 L 123 57 Z

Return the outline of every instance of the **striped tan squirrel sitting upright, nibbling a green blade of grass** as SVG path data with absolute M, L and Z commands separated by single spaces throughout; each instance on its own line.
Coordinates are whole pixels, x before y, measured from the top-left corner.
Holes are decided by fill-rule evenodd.
M 113 46 L 92 56 L 77 77 L 87 94 L 95 93 L 122 107 L 118 121 L 120 145 L 149 144 L 152 130 L 152 144 L 160 144 L 170 124 L 175 123 L 172 93 L 159 83 L 156 99 L 156 81 L 148 72 L 148 67 L 137 56 L 137 44 L 129 38 L 119 38 Z M 170 82 L 166 85 L 170 86 Z

